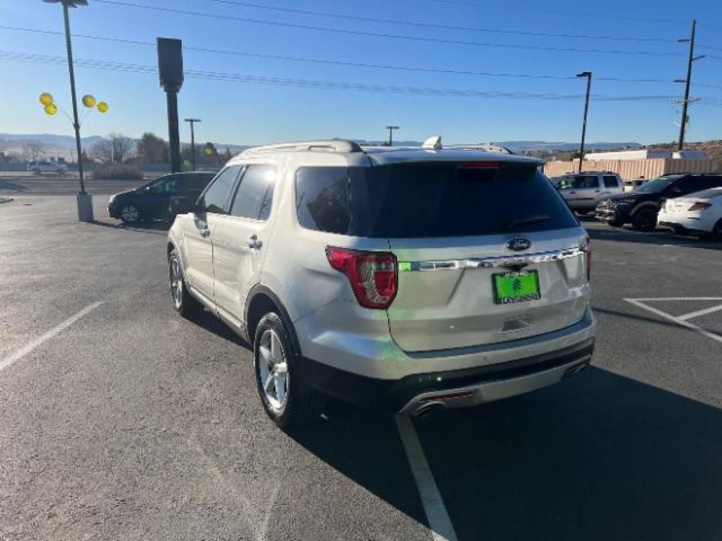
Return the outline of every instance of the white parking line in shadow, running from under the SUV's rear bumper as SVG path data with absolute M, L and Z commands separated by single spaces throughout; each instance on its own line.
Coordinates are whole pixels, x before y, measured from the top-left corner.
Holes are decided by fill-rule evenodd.
M 456 532 L 453 529 L 443 498 L 441 498 L 439 488 L 436 486 L 434 475 L 424 455 L 424 449 L 421 447 L 414 423 L 406 415 L 396 415 L 396 426 L 399 427 L 399 435 L 404 443 L 406 458 L 409 460 L 409 466 L 411 466 L 411 471 L 416 480 L 416 486 L 419 490 L 419 496 L 421 496 L 426 519 L 429 521 L 433 540 L 456 541 Z

